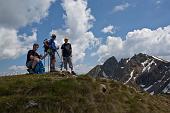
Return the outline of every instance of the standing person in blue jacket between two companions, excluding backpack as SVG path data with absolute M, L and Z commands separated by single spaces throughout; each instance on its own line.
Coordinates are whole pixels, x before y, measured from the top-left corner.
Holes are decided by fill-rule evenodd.
M 56 39 L 56 35 L 52 34 L 51 39 L 49 40 L 49 55 L 50 55 L 50 72 L 54 72 L 55 70 L 55 63 L 56 63 L 56 57 L 55 52 L 59 49 L 56 47 L 56 44 L 54 40 Z

